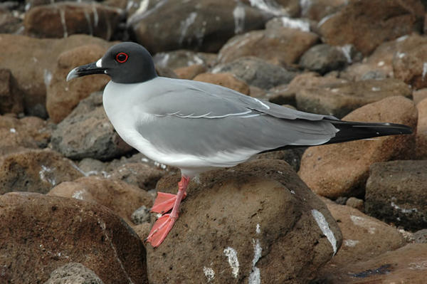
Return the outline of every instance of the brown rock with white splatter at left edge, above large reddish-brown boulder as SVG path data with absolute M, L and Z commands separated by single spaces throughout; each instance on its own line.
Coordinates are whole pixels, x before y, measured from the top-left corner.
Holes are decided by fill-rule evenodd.
M 0 157 L 0 194 L 9 191 L 48 192 L 60 182 L 81 177 L 75 164 L 50 149 L 25 149 Z

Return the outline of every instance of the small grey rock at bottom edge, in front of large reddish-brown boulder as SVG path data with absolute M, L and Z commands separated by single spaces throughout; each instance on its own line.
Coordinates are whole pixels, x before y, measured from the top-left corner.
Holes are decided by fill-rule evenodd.
M 81 263 L 67 263 L 51 273 L 44 284 L 104 284 L 102 280 L 89 268 Z

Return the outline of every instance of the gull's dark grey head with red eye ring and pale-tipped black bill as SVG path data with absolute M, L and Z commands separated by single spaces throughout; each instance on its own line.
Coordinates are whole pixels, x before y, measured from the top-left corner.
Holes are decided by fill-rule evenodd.
M 107 74 L 115 83 L 142 83 L 157 77 L 147 49 L 131 42 L 118 43 L 100 60 L 74 68 L 67 81 L 91 74 Z

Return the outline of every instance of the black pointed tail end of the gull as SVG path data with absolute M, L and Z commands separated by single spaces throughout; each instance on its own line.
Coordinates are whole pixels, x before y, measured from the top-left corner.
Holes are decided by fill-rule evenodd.
M 411 134 L 412 129 L 395 123 L 370 123 L 330 120 L 339 132 L 325 144 L 367 139 L 386 135 Z

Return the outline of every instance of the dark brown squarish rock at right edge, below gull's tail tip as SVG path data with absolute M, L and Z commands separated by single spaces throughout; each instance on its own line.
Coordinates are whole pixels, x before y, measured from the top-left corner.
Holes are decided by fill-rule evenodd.
M 366 190 L 370 216 L 406 230 L 427 228 L 427 161 L 372 164 Z

